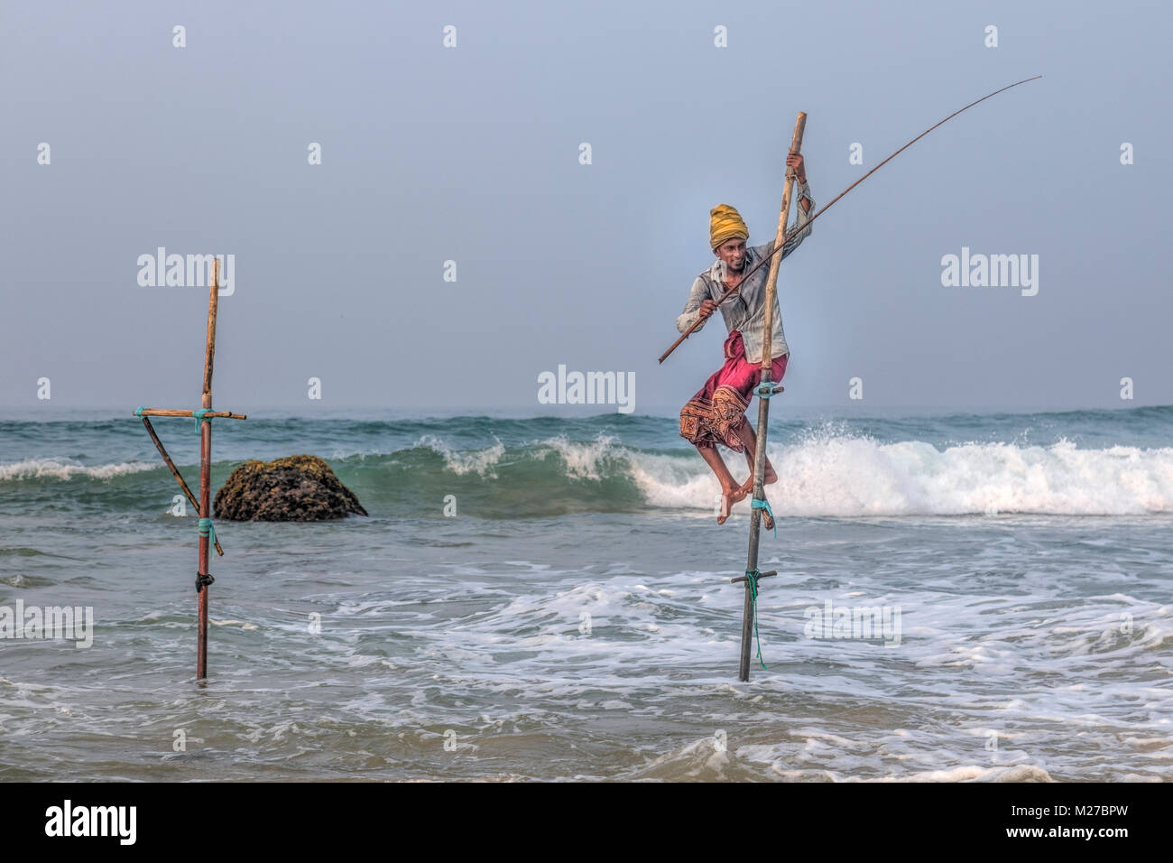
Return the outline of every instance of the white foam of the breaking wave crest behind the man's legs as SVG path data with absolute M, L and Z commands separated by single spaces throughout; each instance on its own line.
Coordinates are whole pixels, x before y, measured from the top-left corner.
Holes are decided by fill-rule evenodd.
M 725 453 L 733 476 L 744 456 Z M 1173 449 L 1082 450 L 969 443 L 938 450 L 907 440 L 881 444 L 834 434 L 769 447 L 779 480 L 775 513 L 793 515 L 960 515 L 1043 513 L 1133 515 L 1173 512 Z M 631 477 L 649 504 L 712 510 L 717 480 L 700 461 L 630 454 Z M 738 505 L 748 508 L 748 503 Z

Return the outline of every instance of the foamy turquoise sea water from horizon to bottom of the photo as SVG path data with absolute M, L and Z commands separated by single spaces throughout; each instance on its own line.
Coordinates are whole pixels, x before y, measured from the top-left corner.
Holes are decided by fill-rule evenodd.
M 0 780 L 1171 777 L 1173 407 L 775 417 L 748 685 L 748 506 L 717 526 L 673 418 L 218 422 L 213 491 L 310 452 L 371 517 L 218 524 L 198 687 L 141 423 L 7 417 L 0 608 L 94 627 L 0 639 Z

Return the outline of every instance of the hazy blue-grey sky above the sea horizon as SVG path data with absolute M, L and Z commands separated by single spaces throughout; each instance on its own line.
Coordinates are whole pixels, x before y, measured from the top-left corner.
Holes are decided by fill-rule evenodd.
M 855 406 L 852 377 L 876 409 L 1171 403 L 1171 25 L 1167 2 L 5 0 L 0 406 L 196 406 L 206 289 L 137 281 L 165 247 L 235 255 L 217 406 L 548 412 L 537 376 L 565 364 L 671 413 L 721 363 L 719 316 L 656 363 L 708 210 L 773 236 L 796 112 L 821 205 L 1035 74 L 787 258 L 785 404 Z M 1037 295 L 943 286 L 962 247 L 1038 255 Z

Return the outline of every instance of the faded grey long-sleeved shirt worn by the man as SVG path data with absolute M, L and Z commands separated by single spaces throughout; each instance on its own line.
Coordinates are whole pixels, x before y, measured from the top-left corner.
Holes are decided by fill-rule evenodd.
M 808 183 L 798 184 L 798 220 L 786 232 L 796 230 L 811 221 L 811 215 L 815 211 L 814 198 L 811 197 L 811 186 Z M 811 205 L 804 213 L 802 198 L 809 201 Z M 811 228 L 795 234 L 782 248 L 782 258 L 794 251 L 799 243 L 811 235 Z M 762 257 L 774 250 L 774 241 L 771 240 L 765 245 L 754 245 L 746 249 L 745 270 L 758 263 Z M 726 299 L 719 306 L 725 317 L 725 326 L 730 332 L 739 330 L 741 341 L 745 343 L 745 358 L 750 363 L 761 362 L 762 338 L 761 330 L 766 318 L 766 277 L 769 274 L 769 264 L 761 268 L 748 278 L 741 279 L 738 292 Z M 692 283 L 692 291 L 689 294 L 689 302 L 684 304 L 684 313 L 676 319 L 676 329 L 680 332 L 687 330 L 697 318 L 700 317 L 700 304 L 706 299 L 713 302 L 721 298 L 725 286 L 721 284 L 721 261 L 718 258 L 713 265 L 697 276 Z M 704 328 L 704 322 L 693 330 L 697 332 Z M 774 297 L 774 325 L 771 333 L 769 353 L 772 359 L 789 353 L 791 349 L 786 344 L 786 335 L 782 332 L 782 312 L 778 308 L 778 297 Z

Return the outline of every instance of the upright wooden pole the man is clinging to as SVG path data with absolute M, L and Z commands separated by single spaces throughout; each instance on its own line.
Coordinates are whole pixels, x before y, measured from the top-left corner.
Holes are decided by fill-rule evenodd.
M 806 114 L 799 112 L 794 122 L 794 137 L 791 140 L 791 153 L 802 149 L 802 132 L 806 129 Z M 775 249 L 781 248 L 786 240 L 786 221 L 791 211 L 791 190 L 794 187 L 794 170 L 786 168 L 786 182 L 782 186 L 782 210 L 778 216 L 778 234 L 774 237 Z M 772 335 L 774 329 L 774 303 L 778 297 L 778 268 L 782 263 L 781 255 L 769 258 L 769 274 L 766 276 L 766 313 L 761 322 L 761 382 L 755 387 L 758 392 L 758 446 L 753 453 L 753 499 L 766 500 L 766 432 L 769 419 L 769 396 L 774 392 L 774 382 L 769 379 L 774 359 L 771 357 Z M 761 535 L 761 508 L 755 504 L 750 515 L 750 557 L 745 565 L 745 611 L 741 618 L 741 670 L 738 680 L 750 680 L 750 650 L 753 646 L 754 615 L 758 601 L 758 540 Z

